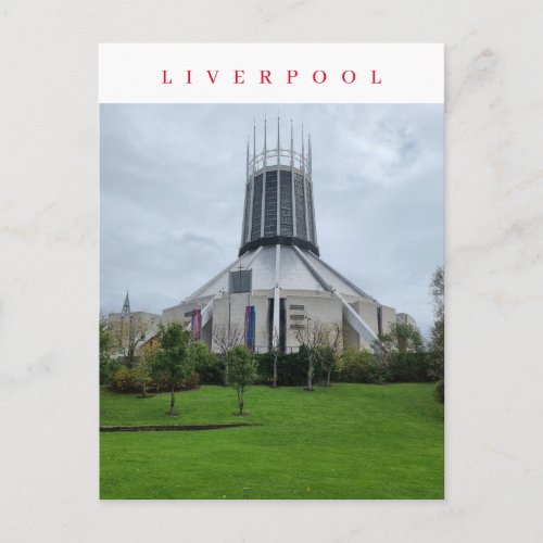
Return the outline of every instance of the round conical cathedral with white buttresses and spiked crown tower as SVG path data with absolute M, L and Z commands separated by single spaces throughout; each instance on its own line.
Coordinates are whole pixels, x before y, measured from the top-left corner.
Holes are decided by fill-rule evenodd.
M 279 122 L 278 122 L 279 123 Z M 275 131 L 275 130 L 274 130 Z M 275 139 L 275 138 L 274 138 Z M 217 330 L 236 327 L 245 344 L 266 352 L 299 348 L 308 320 L 339 325 L 344 346 L 371 349 L 393 323 L 415 320 L 379 303 L 328 265 L 317 240 L 311 136 L 294 149 L 277 139 L 252 152 L 248 143 L 245 200 L 238 257 L 156 320 L 181 321 L 197 339 L 217 350 Z M 121 314 L 112 314 L 115 318 Z

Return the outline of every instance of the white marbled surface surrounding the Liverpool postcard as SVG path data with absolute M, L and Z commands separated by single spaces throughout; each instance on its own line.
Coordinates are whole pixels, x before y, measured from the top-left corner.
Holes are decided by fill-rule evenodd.
M 539 1 L 0 2 L 0 539 L 543 540 Z M 446 45 L 444 502 L 98 500 L 98 42 Z

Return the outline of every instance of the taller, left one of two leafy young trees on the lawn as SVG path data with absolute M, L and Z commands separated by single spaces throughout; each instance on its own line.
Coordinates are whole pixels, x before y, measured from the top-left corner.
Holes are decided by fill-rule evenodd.
M 193 366 L 189 356 L 191 332 L 185 330 L 181 324 L 171 323 L 161 325 L 157 340 L 160 346 L 154 356 L 154 367 L 165 372 L 172 391 L 169 412 L 166 415 L 174 416 L 175 412 L 175 387 L 184 378 L 190 376 Z

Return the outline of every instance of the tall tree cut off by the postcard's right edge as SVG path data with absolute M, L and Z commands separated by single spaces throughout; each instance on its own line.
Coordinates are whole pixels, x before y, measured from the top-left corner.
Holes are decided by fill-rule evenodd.
M 435 395 L 445 400 L 445 272 L 439 266 L 430 282 L 434 323 L 430 331 L 428 376 L 435 381 Z

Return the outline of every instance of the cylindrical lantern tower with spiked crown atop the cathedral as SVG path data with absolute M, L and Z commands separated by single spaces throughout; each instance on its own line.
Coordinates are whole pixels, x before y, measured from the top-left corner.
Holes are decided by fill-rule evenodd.
M 248 142 L 243 225 L 239 255 L 266 245 L 298 245 L 318 256 L 315 207 L 313 203 L 311 136 L 307 152 L 302 127 L 301 152 L 294 151 L 292 121 L 290 144 L 282 148 L 279 118 L 277 141 L 270 148 L 267 122 L 264 144 L 256 152 L 253 129 L 252 155 Z

